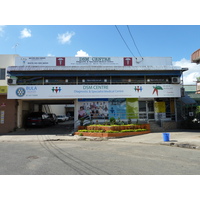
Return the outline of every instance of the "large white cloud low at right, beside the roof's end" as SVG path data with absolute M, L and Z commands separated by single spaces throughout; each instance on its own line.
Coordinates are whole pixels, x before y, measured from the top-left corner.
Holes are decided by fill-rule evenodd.
M 173 62 L 174 66 L 181 66 L 182 68 L 188 68 L 187 71 L 183 72 L 183 84 L 184 85 L 194 85 L 196 78 L 200 77 L 200 65 L 191 63 L 190 60 L 185 58 L 180 61 Z

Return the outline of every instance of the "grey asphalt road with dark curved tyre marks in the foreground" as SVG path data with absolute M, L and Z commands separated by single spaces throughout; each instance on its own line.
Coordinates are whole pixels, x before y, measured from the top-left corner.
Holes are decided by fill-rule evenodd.
M 116 141 L 1 142 L 1 175 L 199 175 L 200 151 Z

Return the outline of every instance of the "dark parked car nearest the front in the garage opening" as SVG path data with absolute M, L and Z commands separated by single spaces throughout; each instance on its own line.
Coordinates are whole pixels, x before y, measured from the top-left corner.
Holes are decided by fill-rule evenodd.
M 27 126 L 48 126 L 51 124 L 49 116 L 44 112 L 32 112 L 28 115 Z

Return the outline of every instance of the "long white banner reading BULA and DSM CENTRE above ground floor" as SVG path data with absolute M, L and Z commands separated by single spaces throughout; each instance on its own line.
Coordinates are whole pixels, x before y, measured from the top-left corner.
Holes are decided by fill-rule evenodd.
M 181 97 L 180 85 L 14 85 L 8 99 Z

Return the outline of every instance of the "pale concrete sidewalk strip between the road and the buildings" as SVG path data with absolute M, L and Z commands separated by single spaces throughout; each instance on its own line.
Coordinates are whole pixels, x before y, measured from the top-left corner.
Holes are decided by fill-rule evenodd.
M 71 135 L 0 135 L 0 142 L 41 142 L 41 141 L 102 141 L 128 142 L 140 144 L 170 145 L 185 148 L 200 149 L 200 131 L 169 131 L 170 141 L 164 142 L 162 133 L 149 133 L 123 138 L 93 138 Z

